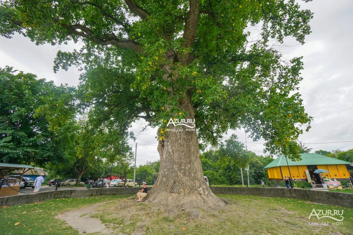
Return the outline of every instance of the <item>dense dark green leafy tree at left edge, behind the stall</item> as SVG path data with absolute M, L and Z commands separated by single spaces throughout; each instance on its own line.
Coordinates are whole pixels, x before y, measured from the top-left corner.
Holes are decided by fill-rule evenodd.
M 10 67 L 0 69 L 0 87 L 0 161 L 41 167 L 62 161 L 72 147 L 69 123 L 59 131 L 40 110 L 74 88 Z

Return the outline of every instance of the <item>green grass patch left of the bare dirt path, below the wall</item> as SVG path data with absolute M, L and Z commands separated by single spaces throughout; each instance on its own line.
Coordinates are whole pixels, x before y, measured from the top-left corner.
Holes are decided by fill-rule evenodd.
M 96 196 L 88 198 L 60 198 L 0 209 L 1 235 L 78 235 L 78 231 L 64 221 L 55 219 L 55 215 L 63 211 L 78 209 L 83 206 L 129 196 Z M 19 223 L 19 224 L 17 224 Z M 84 223 L 84 221 L 82 221 Z M 17 224 L 17 225 L 16 225 Z

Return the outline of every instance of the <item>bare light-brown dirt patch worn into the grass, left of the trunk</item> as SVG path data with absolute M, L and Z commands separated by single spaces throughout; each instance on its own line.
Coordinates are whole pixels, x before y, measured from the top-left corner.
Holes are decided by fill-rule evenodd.
M 106 227 L 99 218 L 92 218 L 91 215 L 99 212 L 101 202 L 78 210 L 67 211 L 56 216 L 67 224 L 78 230 L 80 234 L 100 232 L 104 235 L 115 235 L 114 230 Z

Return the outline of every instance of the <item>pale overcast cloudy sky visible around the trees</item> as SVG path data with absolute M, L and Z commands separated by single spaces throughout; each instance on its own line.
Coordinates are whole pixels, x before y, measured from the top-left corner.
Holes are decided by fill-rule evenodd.
M 287 58 L 304 56 L 304 80 L 300 83 L 299 92 L 306 112 L 314 119 L 310 131 L 301 135 L 299 140 L 313 151 L 352 149 L 353 142 L 309 143 L 353 141 L 353 1 L 319 0 L 306 4 L 302 2 L 301 5 L 314 13 L 310 22 L 312 33 L 306 37 L 304 45 L 289 40 L 287 43 L 292 47 L 282 49 Z M 80 72 L 76 68 L 60 70 L 56 74 L 53 72 L 56 52 L 71 51 L 73 48 L 80 48 L 80 45 L 69 43 L 62 46 L 36 46 L 20 35 L 12 39 L 0 37 L 0 67 L 11 66 L 25 73 L 33 73 L 38 78 L 53 80 L 56 85 L 77 86 Z M 156 129 L 149 128 L 140 134 L 143 127 L 144 124 L 138 122 L 131 128 L 139 143 L 137 165 L 159 159 L 157 146 L 154 146 L 158 144 L 155 139 Z M 235 132 L 239 141 L 245 141 L 243 130 Z M 262 144 L 251 143 L 253 141 L 250 138 L 247 142 L 248 149 L 263 154 Z

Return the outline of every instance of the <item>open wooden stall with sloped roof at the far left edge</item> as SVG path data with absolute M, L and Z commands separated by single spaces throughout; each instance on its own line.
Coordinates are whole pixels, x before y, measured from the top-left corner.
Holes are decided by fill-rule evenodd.
M 0 163 L 0 179 L 6 179 L 7 184 L 19 190 L 23 174 L 34 167 L 10 163 Z M 0 197 L 17 195 L 18 192 L 3 184 L 0 188 Z

